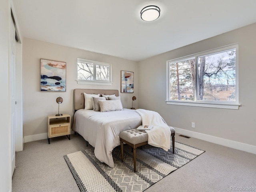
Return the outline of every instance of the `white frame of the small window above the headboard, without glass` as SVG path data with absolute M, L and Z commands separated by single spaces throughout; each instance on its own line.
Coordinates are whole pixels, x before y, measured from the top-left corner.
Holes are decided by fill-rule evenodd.
M 89 63 L 93 64 L 93 79 L 94 80 L 81 80 L 78 79 L 78 70 L 77 70 L 77 84 L 93 84 L 93 85 L 112 85 L 112 64 L 109 63 L 103 63 L 103 62 L 98 62 L 98 61 L 92 61 L 92 60 L 87 60 L 87 59 L 77 59 L 77 63 Z M 109 80 L 96 80 L 96 65 L 100 66 L 108 66 L 109 67 Z M 77 65 L 76 65 L 77 67 Z

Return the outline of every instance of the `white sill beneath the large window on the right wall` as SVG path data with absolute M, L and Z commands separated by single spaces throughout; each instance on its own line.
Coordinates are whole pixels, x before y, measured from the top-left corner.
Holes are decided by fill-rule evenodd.
M 184 101 L 166 101 L 166 104 L 221 108 L 221 109 L 236 109 L 236 110 L 238 110 L 238 108 L 240 106 L 240 104 L 230 104 L 230 103 L 206 103 L 206 102 L 184 102 Z

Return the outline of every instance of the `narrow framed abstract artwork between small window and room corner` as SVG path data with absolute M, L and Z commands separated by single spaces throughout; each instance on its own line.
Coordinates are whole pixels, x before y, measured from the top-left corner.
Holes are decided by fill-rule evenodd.
M 133 93 L 134 73 L 130 71 L 121 71 L 121 93 Z

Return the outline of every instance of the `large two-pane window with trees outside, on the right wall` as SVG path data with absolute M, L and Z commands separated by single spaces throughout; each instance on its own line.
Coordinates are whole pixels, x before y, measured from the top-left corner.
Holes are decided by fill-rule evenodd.
M 238 109 L 238 46 L 167 62 L 168 104 Z

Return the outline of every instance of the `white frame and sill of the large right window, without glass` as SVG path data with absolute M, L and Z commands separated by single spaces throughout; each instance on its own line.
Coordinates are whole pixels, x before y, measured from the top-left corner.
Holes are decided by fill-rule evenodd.
M 236 49 L 236 101 L 214 101 L 214 100 L 198 100 L 198 57 L 201 56 L 207 56 L 212 54 L 217 54 L 218 52 L 228 51 Z M 173 64 L 175 62 L 181 62 L 184 60 L 188 60 L 191 58 L 195 58 L 195 75 L 196 75 L 196 89 L 195 89 L 195 95 L 194 101 L 188 101 L 188 100 L 170 100 L 170 64 Z M 204 52 L 199 52 L 196 54 L 176 58 L 173 60 L 168 60 L 166 62 L 166 75 L 167 75 L 167 88 L 166 88 L 166 104 L 172 104 L 172 105 L 183 105 L 183 106 L 199 106 L 199 107 L 210 107 L 210 108 L 225 108 L 225 109 L 238 109 L 239 104 L 239 89 L 238 89 L 238 44 L 231 44 L 228 46 L 219 47 L 212 50 L 207 50 Z

